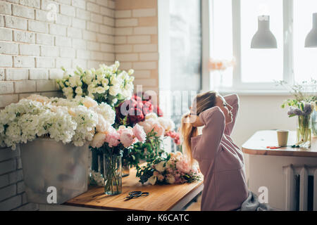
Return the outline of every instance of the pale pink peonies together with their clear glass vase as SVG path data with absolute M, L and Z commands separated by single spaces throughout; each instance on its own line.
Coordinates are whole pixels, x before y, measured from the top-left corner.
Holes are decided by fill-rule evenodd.
M 125 148 L 131 148 L 134 143 L 144 142 L 146 134 L 138 124 L 135 127 L 120 126 L 118 130 L 109 127 L 94 136 L 91 143 L 93 151 L 102 155 L 101 164 L 104 175 L 104 192 L 116 195 L 122 191 L 121 157 Z M 99 164 L 100 165 L 100 164 Z

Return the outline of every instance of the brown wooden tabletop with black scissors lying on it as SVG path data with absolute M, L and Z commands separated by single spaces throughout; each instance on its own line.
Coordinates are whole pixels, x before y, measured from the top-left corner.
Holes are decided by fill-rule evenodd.
M 103 187 L 94 187 L 64 204 L 103 210 L 165 211 L 172 209 L 187 195 L 194 193 L 203 185 L 203 179 L 192 184 L 142 185 L 139 178 L 135 177 L 136 173 L 137 170 L 132 168 L 130 175 L 123 177 L 123 190 L 119 195 L 105 195 Z M 130 191 L 149 192 L 149 195 L 125 201 L 124 198 Z

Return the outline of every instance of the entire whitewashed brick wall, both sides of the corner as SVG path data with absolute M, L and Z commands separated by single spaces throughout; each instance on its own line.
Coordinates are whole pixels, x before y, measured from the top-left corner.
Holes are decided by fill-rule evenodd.
M 157 1 L 0 0 L 0 109 L 33 93 L 60 96 L 61 66 L 120 60 L 135 85 L 158 91 Z M 38 210 L 24 188 L 20 150 L 0 148 L 0 210 Z

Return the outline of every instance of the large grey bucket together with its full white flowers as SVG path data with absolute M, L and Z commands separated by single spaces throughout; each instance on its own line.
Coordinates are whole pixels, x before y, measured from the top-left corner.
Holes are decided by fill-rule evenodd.
M 88 143 L 114 116 L 89 97 L 32 95 L 1 110 L 0 144 L 21 150 L 27 199 L 46 204 L 49 186 L 58 204 L 87 191 Z

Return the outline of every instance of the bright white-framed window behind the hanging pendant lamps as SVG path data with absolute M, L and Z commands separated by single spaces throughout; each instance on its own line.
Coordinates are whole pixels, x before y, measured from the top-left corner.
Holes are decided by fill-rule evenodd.
M 236 62 L 233 68 L 211 71 L 211 89 L 282 90 L 275 80 L 316 79 L 317 48 L 304 48 L 315 12 L 316 0 L 210 0 L 210 58 Z M 277 49 L 251 49 L 259 15 L 270 16 Z

